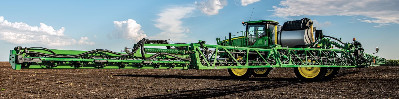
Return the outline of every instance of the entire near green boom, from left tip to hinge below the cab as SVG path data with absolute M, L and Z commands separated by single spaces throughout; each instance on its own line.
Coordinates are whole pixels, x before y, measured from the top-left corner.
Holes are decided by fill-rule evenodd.
M 158 48 L 145 48 L 149 46 Z M 159 46 L 166 49 L 160 49 Z M 237 60 L 238 57 L 245 59 Z M 39 47 L 16 47 L 10 50 L 10 64 L 13 69 L 264 68 L 276 65 L 275 58 L 272 49 L 206 45 L 201 40 L 192 44 L 169 44 L 166 40 L 143 39 L 130 53 L 106 49 L 76 51 Z

